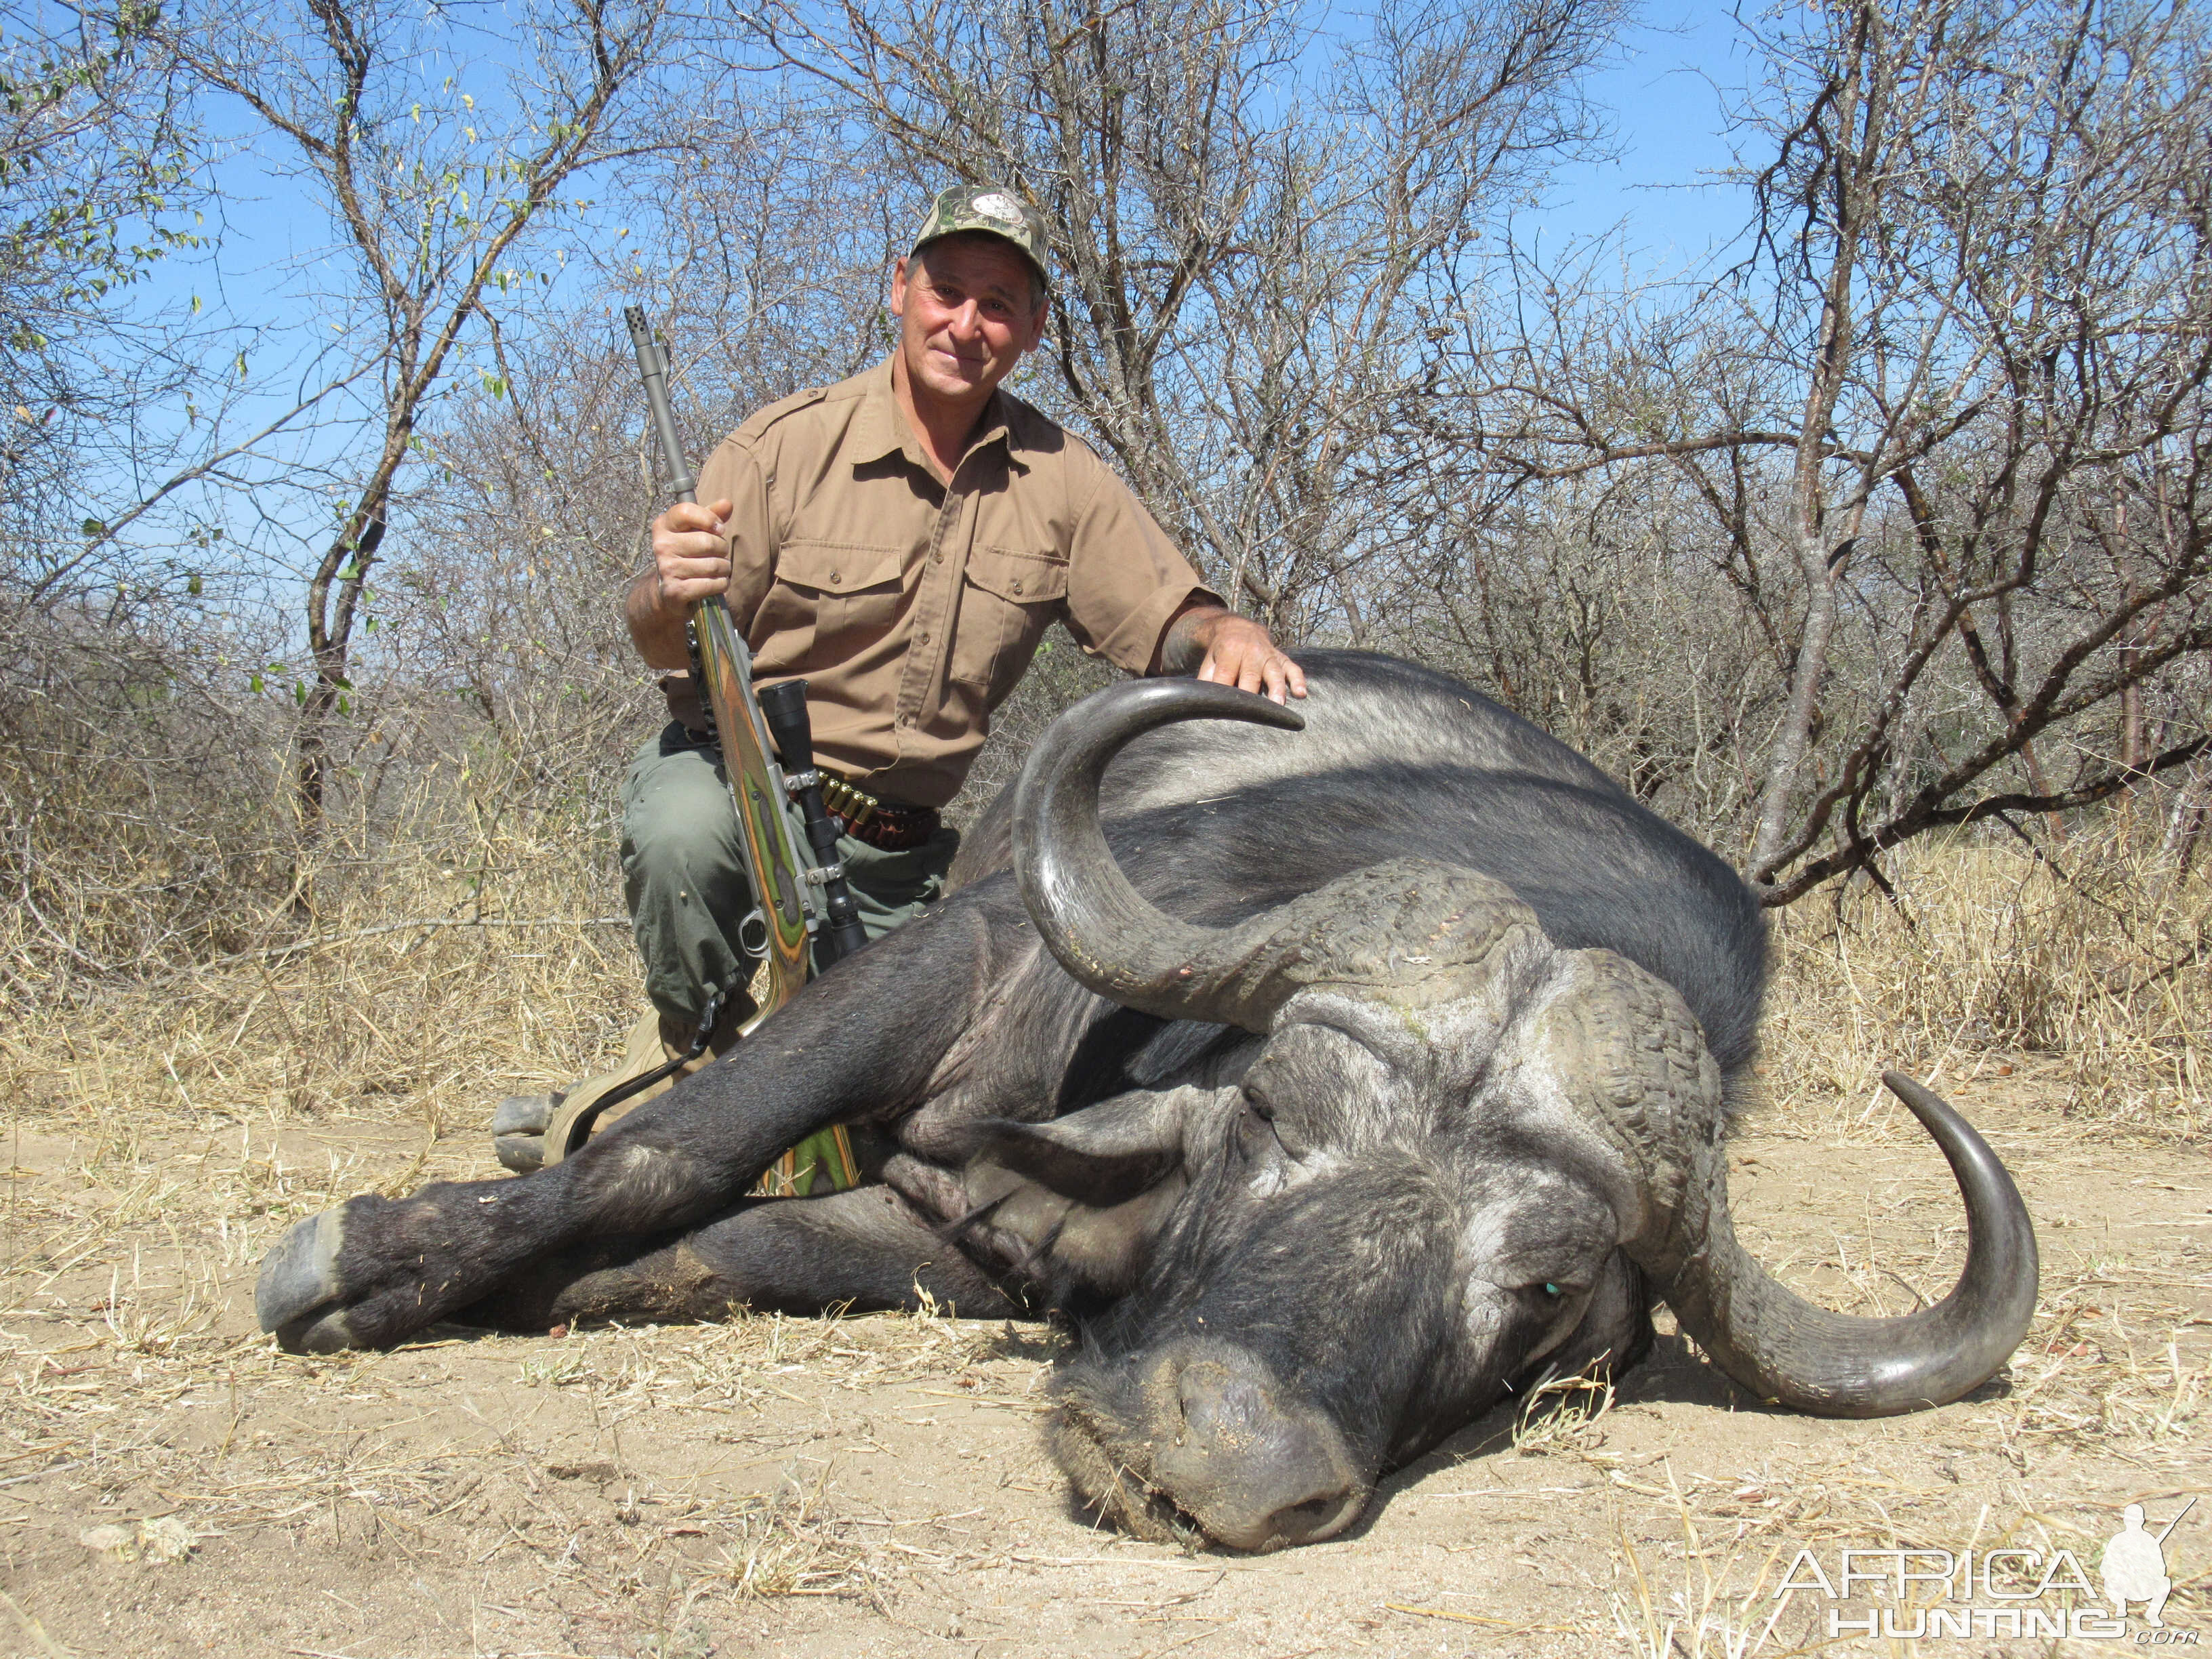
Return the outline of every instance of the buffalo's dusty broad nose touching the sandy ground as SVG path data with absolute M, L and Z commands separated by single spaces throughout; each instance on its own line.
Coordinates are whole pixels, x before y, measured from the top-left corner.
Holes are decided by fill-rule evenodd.
M 1345 1438 L 1321 1413 L 1285 1405 L 1261 1367 L 1194 1360 L 1175 1398 L 1181 1427 L 1155 1478 L 1217 1542 L 1274 1551 L 1332 1537 L 1358 1515 Z

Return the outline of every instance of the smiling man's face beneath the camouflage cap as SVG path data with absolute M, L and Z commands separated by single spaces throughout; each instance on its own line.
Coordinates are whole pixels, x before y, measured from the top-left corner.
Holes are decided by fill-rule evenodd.
M 891 272 L 891 314 L 918 396 L 980 403 L 1044 334 L 1035 274 L 1013 246 L 942 237 Z

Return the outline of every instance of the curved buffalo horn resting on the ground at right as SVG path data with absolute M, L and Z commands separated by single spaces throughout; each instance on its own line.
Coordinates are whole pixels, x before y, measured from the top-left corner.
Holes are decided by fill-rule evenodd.
M 1666 1287 L 1681 1327 L 1761 1400 L 1836 1418 L 1944 1405 L 1993 1376 L 2035 1316 L 2035 1228 L 2013 1177 L 1933 1091 L 1896 1071 L 1882 1082 L 1936 1137 L 1966 1201 L 1966 1265 L 1940 1303 L 1860 1318 L 1790 1292 L 1736 1243 L 1719 1146 L 1692 1175 L 1670 1241 L 1630 1252 Z

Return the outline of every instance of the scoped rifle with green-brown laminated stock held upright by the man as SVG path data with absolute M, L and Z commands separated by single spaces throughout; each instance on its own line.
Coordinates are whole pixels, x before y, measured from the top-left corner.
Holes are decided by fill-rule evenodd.
M 622 316 L 630 327 L 630 345 L 637 347 L 637 374 L 646 383 L 646 407 L 653 411 L 653 434 L 668 473 L 668 491 L 679 502 L 697 502 L 699 480 L 684 460 L 675 411 L 668 407 L 668 354 L 646 325 L 644 307 L 628 305 Z M 723 774 L 737 807 L 739 849 L 745 858 L 745 874 L 752 878 L 757 909 L 739 922 L 739 945 L 748 953 L 765 958 L 765 987 L 759 1013 L 739 1026 L 739 1035 L 750 1035 L 761 1020 L 799 993 L 810 971 L 825 969 L 860 949 L 867 933 L 845 883 L 845 867 L 836 858 L 838 827 L 823 805 L 821 772 L 814 770 L 807 684 L 792 679 L 754 695 L 752 650 L 730 624 L 730 608 L 719 595 L 695 599 L 686 608 L 684 644 L 690 650 L 692 686 L 701 692 L 721 743 Z M 790 772 L 776 763 L 770 732 L 774 732 L 776 750 L 781 750 Z M 783 812 L 785 799 L 796 801 L 805 818 L 807 841 L 816 858 L 812 865 L 801 858 L 790 818 Z M 821 889 L 818 900 L 814 889 Z M 812 951 L 807 949 L 810 940 Z M 723 987 L 710 995 L 706 1020 L 688 1055 L 599 1097 L 588 1115 L 564 1126 L 562 1139 L 566 1144 L 557 1150 L 549 1148 L 549 1152 L 562 1157 L 575 1150 L 608 1106 L 697 1060 L 706 1051 L 714 1018 L 732 991 L 734 987 Z M 852 1144 L 843 1128 L 814 1137 L 805 1150 L 832 1164 L 838 1186 L 854 1183 Z M 794 1183 L 801 1161 L 799 1148 L 783 1155 L 785 1188 Z

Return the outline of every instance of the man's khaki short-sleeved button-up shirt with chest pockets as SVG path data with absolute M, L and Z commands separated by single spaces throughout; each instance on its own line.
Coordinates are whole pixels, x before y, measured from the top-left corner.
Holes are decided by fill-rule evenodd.
M 1053 622 L 1144 672 L 1186 599 L 1221 604 L 1079 438 L 1006 392 L 940 478 L 889 361 L 752 416 L 699 471 L 699 500 L 721 498 L 754 681 L 803 677 L 821 763 L 900 805 L 958 794 Z M 688 675 L 664 688 L 703 723 Z

